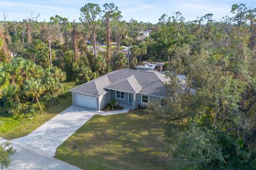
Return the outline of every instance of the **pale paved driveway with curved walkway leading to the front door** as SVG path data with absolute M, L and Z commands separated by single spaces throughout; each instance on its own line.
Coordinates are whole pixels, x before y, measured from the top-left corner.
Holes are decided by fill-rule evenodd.
M 129 109 L 102 112 L 85 107 L 70 106 L 65 111 L 40 126 L 34 132 L 28 134 L 26 137 L 14 139 L 13 141 L 53 157 L 56 149 L 61 145 L 61 143 L 67 140 L 95 114 L 111 115 L 127 113 L 128 111 Z

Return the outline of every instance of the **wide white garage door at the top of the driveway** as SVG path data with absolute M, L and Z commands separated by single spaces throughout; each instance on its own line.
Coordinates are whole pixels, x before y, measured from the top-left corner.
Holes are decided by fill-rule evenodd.
M 97 109 L 96 98 L 85 95 L 76 95 L 76 105 Z

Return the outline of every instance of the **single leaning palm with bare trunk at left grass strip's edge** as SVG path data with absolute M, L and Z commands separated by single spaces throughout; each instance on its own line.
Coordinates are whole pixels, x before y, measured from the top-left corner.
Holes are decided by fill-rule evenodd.
M 31 78 L 29 80 L 27 80 L 25 82 L 25 94 L 29 97 L 33 97 L 36 99 L 36 103 L 38 105 L 38 108 L 40 110 L 41 113 L 43 113 L 42 111 L 42 107 L 39 103 L 38 98 L 43 94 L 43 92 L 45 91 L 44 86 L 42 86 L 42 80 L 41 79 L 34 79 Z

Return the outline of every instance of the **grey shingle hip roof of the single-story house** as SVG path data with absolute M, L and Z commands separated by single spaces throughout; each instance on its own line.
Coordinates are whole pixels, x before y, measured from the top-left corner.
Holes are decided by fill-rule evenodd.
M 105 94 L 107 89 L 115 89 L 164 97 L 166 94 L 164 81 L 168 81 L 168 79 L 159 72 L 123 69 L 110 72 L 69 91 L 91 96 L 101 96 Z

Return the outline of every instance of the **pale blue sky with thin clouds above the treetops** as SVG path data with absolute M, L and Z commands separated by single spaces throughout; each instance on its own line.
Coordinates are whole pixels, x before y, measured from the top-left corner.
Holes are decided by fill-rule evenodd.
M 86 3 L 97 3 L 101 7 L 110 1 L 82 1 L 82 0 L 0 0 L 0 11 L 8 13 L 9 21 L 21 21 L 27 18 L 30 11 L 39 13 L 39 21 L 49 21 L 50 16 L 56 14 L 69 17 L 69 20 L 79 18 L 79 9 Z M 197 16 L 206 13 L 213 13 L 214 20 L 220 20 L 222 16 L 230 13 L 231 5 L 244 3 L 248 6 L 256 7 L 256 0 L 235 1 L 235 0 L 113 0 L 119 10 L 122 11 L 123 19 L 129 21 L 131 18 L 143 22 L 158 22 L 162 14 L 172 15 L 175 11 L 180 11 L 186 21 L 195 20 Z M 3 16 L 0 17 L 3 20 Z

